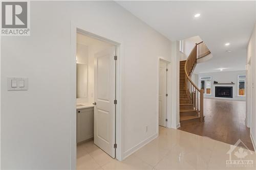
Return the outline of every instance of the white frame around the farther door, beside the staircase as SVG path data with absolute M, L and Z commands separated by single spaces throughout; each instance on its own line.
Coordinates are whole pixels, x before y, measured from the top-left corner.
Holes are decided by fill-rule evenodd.
M 167 94 L 168 97 L 166 99 L 166 118 L 167 118 L 167 123 L 166 123 L 166 128 L 171 128 L 172 127 L 172 83 L 170 82 L 171 78 L 172 78 L 172 73 L 170 71 L 172 71 L 171 68 L 171 64 L 170 61 L 167 61 L 165 59 L 163 59 L 162 57 L 158 57 L 157 59 L 157 134 L 159 134 L 159 124 L 158 124 L 158 119 L 159 119 L 159 81 L 160 81 L 160 77 L 159 77 L 159 69 L 160 69 L 160 60 L 163 62 L 166 62 L 167 64 Z

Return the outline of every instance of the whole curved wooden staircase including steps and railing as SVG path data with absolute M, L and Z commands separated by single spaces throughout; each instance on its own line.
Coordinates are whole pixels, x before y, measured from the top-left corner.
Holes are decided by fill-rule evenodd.
M 180 124 L 204 122 L 203 90 L 190 77 L 197 65 L 197 59 L 210 54 L 207 46 L 200 42 L 195 45 L 187 60 L 180 61 Z

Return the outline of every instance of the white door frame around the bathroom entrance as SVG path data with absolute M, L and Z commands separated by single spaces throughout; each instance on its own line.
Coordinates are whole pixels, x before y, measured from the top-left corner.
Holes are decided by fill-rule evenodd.
M 92 32 L 86 31 L 87 25 L 80 25 L 75 21 L 71 21 L 71 54 L 70 54 L 70 161 L 71 167 L 70 169 L 76 169 L 76 34 L 77 32 L 84 34 L 89 37 L 96 38 L 101 41 L 105 41 L 111 43 L 117 48 L 117 67 L 116 67 L 116 159 L 122 160 L 122 119 L 121 119 L 121 65 L 122 65 L 122 57 L 123 46 L 121 43 L 117 41 L 110 40 L 108 38 L 104 38 Z M 114 62 L 114 58 L 113 58 Z

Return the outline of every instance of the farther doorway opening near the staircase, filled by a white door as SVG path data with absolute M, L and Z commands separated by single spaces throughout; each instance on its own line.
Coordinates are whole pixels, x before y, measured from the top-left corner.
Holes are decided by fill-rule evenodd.
M 158 79 L 158 125 L 167 127 L 168 110 L 168 61 L 159 59 L 159 79 Z

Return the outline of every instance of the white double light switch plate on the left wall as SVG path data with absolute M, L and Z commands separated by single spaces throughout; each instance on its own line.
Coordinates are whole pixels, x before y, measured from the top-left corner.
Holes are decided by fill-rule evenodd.
M 14 86 L 14 82 L 16 81 L 16 87 Z M 28 78 L 15 78 L 8 77 L 7 78 L 7 87 L 8 91 L 16 91 L 16 90 L 28 90 Z

